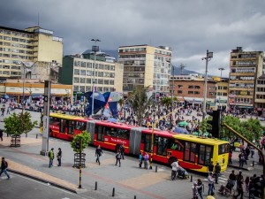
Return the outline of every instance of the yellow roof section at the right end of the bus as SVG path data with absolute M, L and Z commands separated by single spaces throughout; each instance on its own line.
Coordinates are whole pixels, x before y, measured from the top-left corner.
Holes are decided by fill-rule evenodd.
M 199 142 L 199 143 L 204 143 L 208 145 L 214 145 L 214 144 L 220 145 L 220 144 L 229 143 L 227 141 L 222 141 L 222 140 L 218 140 L 215 138 L 199 137 L 199 136 L 192 135 L 192 134 L 174 134 L 173 137 L 178 140 L 186 140 L 186 141 L 197 142 L 197 143 Z

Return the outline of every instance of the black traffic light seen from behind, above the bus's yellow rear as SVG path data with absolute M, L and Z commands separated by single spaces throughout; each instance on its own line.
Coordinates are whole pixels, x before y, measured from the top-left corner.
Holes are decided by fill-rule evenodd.
M 220 138 L 221 130 L 221 110 L 217 111 L 208 111 L 208 115 L 212 116 L 212 120 L 208 120 L 207 123 L 212 126 L 211 129 L 208 129 L 208 133 L 212 134 L 215 138 Z

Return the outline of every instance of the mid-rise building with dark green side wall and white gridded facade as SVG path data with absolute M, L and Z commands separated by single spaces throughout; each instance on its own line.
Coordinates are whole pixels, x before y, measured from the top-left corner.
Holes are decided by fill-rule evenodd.
M 92 91 L 94 72 L 95 90 L 101 93 L 123 92 L 124 66 L 104 53 L 96 53 L 95 57 L 93 53 L 64 56 L 59 82 L 72 84 L 73 96 L 83 101 L 83 94 Z

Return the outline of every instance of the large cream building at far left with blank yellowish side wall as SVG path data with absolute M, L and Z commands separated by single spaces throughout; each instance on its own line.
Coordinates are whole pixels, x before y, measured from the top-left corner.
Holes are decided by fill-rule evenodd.
M 63 39 L 54 36 L 53 31 L 42 27 L 28 27 L 25 30 L 0 27 L 2 79 L 27 76 L 39 80 L 57 80 L 57 67 L 62 65 L 62 59 Z M 24 70 L 22 62 L 30 69 Z

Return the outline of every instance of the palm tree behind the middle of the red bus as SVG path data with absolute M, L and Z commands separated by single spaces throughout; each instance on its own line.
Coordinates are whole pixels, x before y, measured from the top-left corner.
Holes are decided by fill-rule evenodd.
M 128 96 L 128 103 L 132 106 L 133 111 L 135 112 L 139 126 L 142 125 L 143 118 L 148 106 L 152 103 L 152 97 L 148 98 L 148 87 L 136 87 Z

